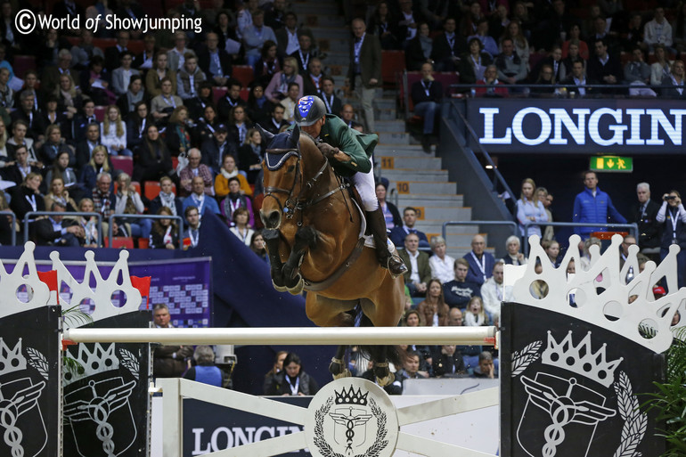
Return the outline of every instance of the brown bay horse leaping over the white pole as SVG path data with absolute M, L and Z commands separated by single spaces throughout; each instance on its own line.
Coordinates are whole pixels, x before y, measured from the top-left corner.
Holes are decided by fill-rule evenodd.
M 353 326 L 355 311 L 363 313 L 363 325 L 395 327 L 404 311 L 403 278 L 392 277 L 375 250 L 364 247 L 362 212 L 348 184 L 298 126 L 278 135 L 259 130 L 267 144 L 260 217 L 274 288 L 306 290 L 307 317 L 321 327 Z M 338 348 L 329 367 L 335 378 L 348 375 L 346 348 Z M 397 363 L 395 348 L 364 349 L 380 385 L 392 382 L 388 357 Z

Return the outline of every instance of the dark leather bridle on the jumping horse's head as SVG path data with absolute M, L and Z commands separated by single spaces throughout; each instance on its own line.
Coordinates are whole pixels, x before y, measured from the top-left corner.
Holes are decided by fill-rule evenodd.
M 307 135 L 305 132 L 300 132 L 300 135 Z M 309 136 L 309 135 L 307 135 Z M 313 140 L 310 136 L 310 139 Z M 272 154 L 273 156 L 281 156 L 278 161 L 275 164 L 270 164 L 269 163 L 269 155 Z M 287 159 L 290 159 L 291 157 L 295 156 L 298 158 L 296 161 L 296 175 L 293 178 L 293 185 L 290 186 L 290 189 L 284 189 L 282 187 L 274 187 L 274 186 L 267 186 L 265 187 L 265 199 L 267 197 L 271 197 L 274 200 L 276 200 L 281 206 L 281 201 L 274 195 L 274 193 L 285 193 L 288 197 L 285 201 L 285 203 L 282 206 L 282 212 L 283 214 L 286 215 L 287 219 L 292 219 L 293 216 L 295 216 L 296 211 L 299 209 L 302 211 L 310 207 L 316 203 L 319 203 L 320 201 L 330 197 L 333 195 L 335 192 L 338 192 L 339 190 L 343 190 L 347 187 L 347 184 L 341 184 L 338 187 L 334 188 L 330 192 L 327 192 L 323 194 L 321 197 L 318 197 L 314 200 L 306 200 L 304 198 L 306 192 L 309 192 L 311 189 L 314 188 L 314 184 L 317 183 L 317 180 L 322 177 L 324 171 L 326 170 L 327 167 L 329 167 L 329 159 L 326 159 L 326 157 L 322 154 L 323 158 L 323 164 L 322 167 L 319 168 L 317 173 L 314 174 L 312 178 L 307 180 L 305 184 L 303 184 L 303 179 L 304 175 L 302 171 L 300 170 L 301 168 L 301 159 L 302 159 L 302 153 L 300 152 L 300 143 L 298 142 L 298 145 L 296 148 L 274 148 L 274 149 L 268 149 L 266 150 L 266 157 L 265 157 L 265 165 L 268 170 L 270 171 L 276 171 L 283 167 L 283 164 L 286 162 Z M 296 189 L 296 185 L 300 183 L 300 192 L 298 192 L 298 196 L 293 198 L 293 192 Z M 298 225 L 302 225 L 302 217 L 300 217 L 300 221 L 298 222 Z

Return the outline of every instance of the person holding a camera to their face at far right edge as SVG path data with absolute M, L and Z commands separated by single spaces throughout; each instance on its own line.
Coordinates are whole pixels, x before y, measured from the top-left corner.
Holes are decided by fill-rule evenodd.
M 656 220 L 664 224 L 662 228 L 662 241 L 660 242 L 660 261 L 667 257 L 669 247 L 676 244 L 682 250 L 676 256 L 679 287 L 686 285 L 684 282 L 684 269 L 686 269 L 686 210 L 683 208 L 682 196 L 677 191 L 670 191 L 662 196 L 662 207 L 657 211 Z M 670 290 L 671 292 L 672 290 Z

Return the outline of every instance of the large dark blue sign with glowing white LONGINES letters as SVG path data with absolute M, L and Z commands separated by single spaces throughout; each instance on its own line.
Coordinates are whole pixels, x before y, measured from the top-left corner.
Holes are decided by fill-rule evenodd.
M 478 143 L 489 152 L 654 153 L 656 146 L 661 153 L 682 152 L 685 115 L 686 105 L 674 101 L 483 99 L 468 104 Z

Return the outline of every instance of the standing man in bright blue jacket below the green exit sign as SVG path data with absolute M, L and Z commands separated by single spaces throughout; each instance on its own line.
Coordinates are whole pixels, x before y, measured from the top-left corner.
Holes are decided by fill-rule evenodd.
M 624 216 L 612 204 L 612 200 L 605 192 L 598 188 L 598 177 L 592 171 L 584 172 L 584 192 L 576 195 L 574 200 L 573 222 L 589 224 L 608 224 L 612 221 L 617 224 L 626 224 Z M 582 227 L 574 228 L 574 233 L 586 239 L 592 232 L 605 232 L 605 227 Z

